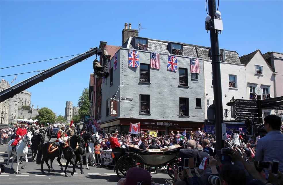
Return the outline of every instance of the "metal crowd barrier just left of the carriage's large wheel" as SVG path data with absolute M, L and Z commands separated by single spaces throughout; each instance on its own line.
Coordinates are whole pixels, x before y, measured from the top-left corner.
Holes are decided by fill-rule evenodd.
M 85 157 L 85 155 L 83 157 Z M 117 159 L 114 157 L 112 150 L 95 149 L 94 157 L 95 159 L 93 159 L 92 156 L 89 156 L 89 165 L 93 164 L 93 166 L 107 166 L 109 168 L 114 168 L 116 165 Z

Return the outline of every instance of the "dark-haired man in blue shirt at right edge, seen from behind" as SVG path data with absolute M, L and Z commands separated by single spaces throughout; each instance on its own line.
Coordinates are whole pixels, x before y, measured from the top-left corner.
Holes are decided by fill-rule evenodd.
M 280 132 L 281 118 L 268 115 L 264 119 L 267 135 L 257 141 L 255 161 L 279 161 L 278 170 L 283 172 L 283 135 Z M 266 175 L 268 175 L 265 169 Z

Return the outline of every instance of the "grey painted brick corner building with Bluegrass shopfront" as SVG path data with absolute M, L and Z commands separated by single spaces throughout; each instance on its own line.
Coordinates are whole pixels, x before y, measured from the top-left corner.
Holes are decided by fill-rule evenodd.
M 149 51 L 135 50 L 133 46 L 138 41 L 146 42 Z M 177 72 L 167 70 L 168 56 L 174 47 L 183 49 L 183 54 L 177 55 Z M 128 67 L 129 50 L 139 51 L 139 68 Z M 151 52 L 160 53 L 160 69 L 150 68 Z M 191 58 L 199 60 L 198 75 L 190 72 Z M 130 122 L 140 122 L 142 129 L 158 129 L 159 133 L 203 127 L 204 70 L 196 46 L 129 37 L 118 50 L 117 61 L 114 71 L 114 57 L 111 59 L 110 75 L 102 83 L 101 128 L 104 132 L 128 131 Z M 117 117 L 110 116 L 109 98 L 115 94 L 116 100 L 126 101 L 118 102 Z

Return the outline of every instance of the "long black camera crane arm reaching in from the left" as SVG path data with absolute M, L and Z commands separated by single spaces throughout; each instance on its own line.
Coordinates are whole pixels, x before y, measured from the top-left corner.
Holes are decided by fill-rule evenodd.
M 39 82 L 43 82 L 43 80 L 52 77 L 53 75 L 66 70 L 68 67 L 71 67 L 72 65 L 75 65 L 95 54 L 101 54 L 102 51 L 101 49 L 96 48 L 90 48 L 90 50 L 79 54 L 78 56 L 69 59 L 59 65 L 56 65 L 50 69 L 47 69 L 33 77 L 30 77 L 20 83 L 17 83 L 7 89 L 3 89 L 2 91 L 0 91 L 0 102 L 3 102 L 5 100 L 7 100 L 8 98 L 12 98 L 14 95 L 24 91 L 25 89 L 39 83 Z

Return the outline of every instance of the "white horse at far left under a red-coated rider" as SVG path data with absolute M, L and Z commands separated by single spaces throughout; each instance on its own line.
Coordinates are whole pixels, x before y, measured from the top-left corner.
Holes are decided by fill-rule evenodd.
M 13 168 L 13 163 L 14 163 L 14 159 L 17 156 L 17 170 L 16 170 L 16 174 L 19 174 L 19 161 L 20 161 L 20 157 L 24 157 L 26 159 L 26 163 L 24 165 L 22 165 L 22 169 L 24 169 L 26 167 L 26 164 L 28 163 L 28 145 L 31 146 L 31 138 L 32 135 L 30 132 L 28 132 L 26 135 L 24 135 L 20 141 L 18 142 L 17 146 L 15 147 L 15 152 L 14 152 L 14 156 L 12 158 L 12 164 L 11 164 L 11 170 L 14 170 Z M 9 144 L 8 144 L 8 161 L 6 165 L 9 165 L 9 161 L 10 161 L 10 155 L 11 155 L 11 151 L 12 151 L 12 146 L 11 144 L 15 141 L 15 139 L 12 139 Z

